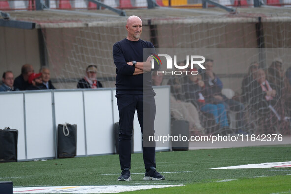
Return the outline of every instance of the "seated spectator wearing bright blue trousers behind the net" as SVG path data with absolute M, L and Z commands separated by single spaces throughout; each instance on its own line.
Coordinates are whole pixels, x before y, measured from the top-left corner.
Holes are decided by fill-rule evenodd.
M 190 69 L 190 71 L 197 71 L 197 69 Z M 205 83 L 199 79 L 199 75 L 188 74 L 185 79 L 186 84 L 183 85 L 185 97 L 187 102 L 197 104 L 198 108 L 205 113 L 210 113 L 215 119 L 215 123 L 219 125 L 222 131 L 229 130 L 229 124 L 226 114 L 226 109 L 223 103 L 208 102 L 205 95 Z

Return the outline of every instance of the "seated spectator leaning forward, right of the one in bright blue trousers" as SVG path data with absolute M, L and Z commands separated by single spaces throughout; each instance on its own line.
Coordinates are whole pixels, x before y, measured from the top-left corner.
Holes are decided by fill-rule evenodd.
M 206 59 L 204 66 L 206 70 L 202 72 L 203 81 L 205 83 L 205 98 L 210 104 L 223 103 L 226 110 L 231 110 L 237 112 L 237 122 L 236 128 L 239 133 L 244 133 L 245 131 L 245 121 L 244 113 L 245 106 L 233 99 L 228 99 L 225 95 L 221 93 L 223 88 L 223 83 L 213 72 L 213 60 Z

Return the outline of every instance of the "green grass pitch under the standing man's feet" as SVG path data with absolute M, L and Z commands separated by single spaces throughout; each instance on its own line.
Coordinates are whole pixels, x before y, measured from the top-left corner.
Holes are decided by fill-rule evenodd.
M 164 181 L 142 180 L 142 154 L 132 155 L 131 182 L 117 181 L 121 172 L 118 155 L 0 163 L 0 181 L 13 181 L 14 187 L 185 185 L 134 193 L 291 193 L 291 168 L 209 169 L 291 161 L 290 145 L 158 152 L 156 161 L 157 170 L 166 177 Z

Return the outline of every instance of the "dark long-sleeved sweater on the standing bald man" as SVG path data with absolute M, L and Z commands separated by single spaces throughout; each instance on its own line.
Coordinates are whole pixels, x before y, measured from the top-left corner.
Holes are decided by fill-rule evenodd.
M 144 48 L 145 56 L 144 56 Z M 144 91 L 153 92 L 151 73 L 133 75 L 134 68 L 127 62 L 145 62 L 151 53 L 155 53 L 152 43 L 144 40 L 130 41 L 123 39 L 113 45 L 113 59 L 116 65 L 116 94 L 143 94 Z M 159 65 L 155 63 L 157 70 Z

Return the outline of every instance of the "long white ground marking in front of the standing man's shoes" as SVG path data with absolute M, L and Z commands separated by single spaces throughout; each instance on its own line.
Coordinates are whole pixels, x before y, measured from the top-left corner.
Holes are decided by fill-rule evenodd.
M 184 185 L 106 185 L 106 186 L 51 186 L 51 187 L 15 187 L 13 194 L 100 194 L 137 191 L 152 188 L 178 187 Z

